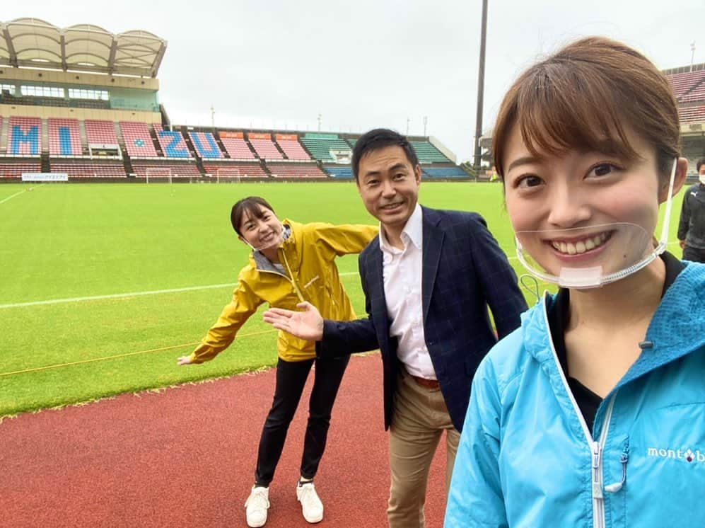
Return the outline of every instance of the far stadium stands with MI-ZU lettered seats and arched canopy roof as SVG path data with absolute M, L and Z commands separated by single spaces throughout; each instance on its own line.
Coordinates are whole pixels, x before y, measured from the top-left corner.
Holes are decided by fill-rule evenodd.
M 158 81 L 167 42 L 156 35 L 113 35 L 93 25 L 57 28 L 37 19 L 4 27 L 4 182 L 22 180 L 23 174 L 28 180 L 32 173 L 52 174 L 47 176 L 52 180 L 113 183 L 352 177 L 351 147 L 360 134 L 170 122 L 168 109 L 159 103 Z M 410 139 L 424 177 L 468 178 L 437 139 Z

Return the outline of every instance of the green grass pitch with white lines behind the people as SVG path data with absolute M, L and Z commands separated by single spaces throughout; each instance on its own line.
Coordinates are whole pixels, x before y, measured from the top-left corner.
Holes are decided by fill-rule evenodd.
M 215 360 L 176 365 L 246 263 L 229 216 L 247 195 L 298 222 L 375 223 L 354 183 L 0 185 L 0 418 L 274 365 L 259 315 Z M 424 182 L 420 201 L 479 212 L 513 257 L 499 184 Z M 363 314 L 356 256 L 338 265 Z

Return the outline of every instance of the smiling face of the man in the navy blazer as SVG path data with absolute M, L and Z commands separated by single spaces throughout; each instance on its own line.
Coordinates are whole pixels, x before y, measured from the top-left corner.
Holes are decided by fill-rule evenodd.
M 421 168 L 412 166 L 402 147 L 383 147 L 361 158 L 357 185 L 368 212 L 394 236 L 404 229 L 419 200 Z

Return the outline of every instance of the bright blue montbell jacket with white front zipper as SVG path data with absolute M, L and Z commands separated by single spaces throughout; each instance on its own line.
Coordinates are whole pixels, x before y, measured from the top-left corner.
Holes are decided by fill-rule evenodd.
M 592 434 L 549 335 L 553 302 L 475 374 L 445 527 L 705 527 L 705 265 L 668 288 Z

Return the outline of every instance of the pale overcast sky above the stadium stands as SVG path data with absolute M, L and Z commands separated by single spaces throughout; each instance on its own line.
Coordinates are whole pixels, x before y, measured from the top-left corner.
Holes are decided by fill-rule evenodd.
M 4 2 L 0 20 L 144 29 L 168 41 L 160 101 L 175 124 L 438 138 L 473 151 L 482 0 Z M 483 130 L 518 74 L 583 35 L 660 68 L 705 62 L 703 0 L 489 0 Z M 216 83 L 216 79 L 221 79 Z

